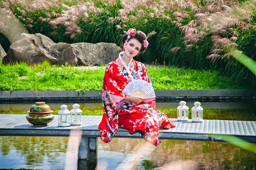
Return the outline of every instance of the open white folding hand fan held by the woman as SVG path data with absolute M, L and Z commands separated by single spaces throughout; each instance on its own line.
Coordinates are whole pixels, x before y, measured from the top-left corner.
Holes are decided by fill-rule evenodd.
M 138 96 L 144 99 L 154 98 L 154 88 L 145 80 L 135 79 L 128 83 L 123 90 L 123 93 L 129 96 Z

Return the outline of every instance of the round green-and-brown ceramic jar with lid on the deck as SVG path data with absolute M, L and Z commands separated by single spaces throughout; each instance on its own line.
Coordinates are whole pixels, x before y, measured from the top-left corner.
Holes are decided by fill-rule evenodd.
M 53 110 L 45 102 L 36 102 L 27 111 L 26 119 L 34 126 L 47 126 L 54 119 Z

